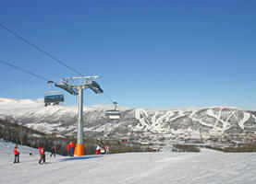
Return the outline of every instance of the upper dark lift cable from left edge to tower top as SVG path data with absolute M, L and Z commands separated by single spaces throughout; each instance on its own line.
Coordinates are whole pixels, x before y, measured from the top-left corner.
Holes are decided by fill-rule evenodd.
M 0 27 L 3 29 L 6 29 L 8 32 L 10 32 L 11 34 L 13 34 L 14 36 L 16 36 L 18 39 L 23 40 L 24 42 L 28 43 L 30 46 L 32 46 L 33 48 L 35 48 L 36 50 L 43 52 L 44 54 L 48 55 L 50 58 L 54 59 L 57 63 L 61 63 L 62 65 L 66 66 L 68 69 L 72 70 L 73 72 L 79 74 L 82 76 L 82 74 L 80 74 L 78 71 L 76 71 L 75 69 L 71 68 L 70 66 L 68 66 L 66 63 L 61 62 L 59 59 L 55 58 L 55 56 L 53 56 L 52 54 L 50 54 L 49 52 L 45 52 L 43 51 L 43 49 L 39 48 L 38 46 L 36 46 L 35 44 L 31 43 L 29 40 L 26 40 L 24 38 L 22 38 L 21 36 L 19 36 L 17 33 L 15 33 L 14 31 L 7 29 L 5 26 L 3 26 L 2 24 L 0 24 Z

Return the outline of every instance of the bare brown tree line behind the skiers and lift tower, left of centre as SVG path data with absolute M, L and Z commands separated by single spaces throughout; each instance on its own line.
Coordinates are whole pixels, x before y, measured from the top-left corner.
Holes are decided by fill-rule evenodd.
M 38 148 L 41 143 L 44 144 L 45 150 L 51 152 L 53 145 L 56 147 L 58 155 L 67 155 L 67 144 L 74 142 L 76 137 L 66 136 L 59 137 L 55 133 L 46 134 L 18 124 L 18 122 L 0 120 L 0 138 L 15 144 L 28 145 Z M 104 140 L 101 138 L 84 138 L 85 155 L 94 155 L 96 146 L 104 148 L 105 144 L 110 146 L 110 152 L 127 153 L 127 152 L 153 152 L 152 148 L 142 148 L 140 144 L 121 144 L 119 140 Z

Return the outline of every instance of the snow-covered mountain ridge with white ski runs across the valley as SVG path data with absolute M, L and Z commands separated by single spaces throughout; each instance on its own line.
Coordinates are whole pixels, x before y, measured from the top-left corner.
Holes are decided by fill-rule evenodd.
M 158 141 L 256 134 L 256 111 L 233 107 L 132 109 L 119 106 L 119 120 L 106 119 L 107 109 L 113 106 L 84 107 L 86 136 Z M 76 133 L 77 116 L 77 106 L 44 107 L 43 99 L 0 98 L 1 119 L 18 121 L 41 132 Z

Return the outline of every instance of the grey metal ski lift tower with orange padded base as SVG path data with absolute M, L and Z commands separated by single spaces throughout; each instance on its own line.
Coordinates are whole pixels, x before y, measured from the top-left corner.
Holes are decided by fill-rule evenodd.
M 79 95 L 79 116 L 77 144 L 74 155 L 84 155 L 83 144 L 83 90 L 90 88 L 94 93 L 103 93 L 103 89 L 96 83 L 99 76 L 79 76 L 63 78 L 59 84 L 55 84 L 71 95 Z

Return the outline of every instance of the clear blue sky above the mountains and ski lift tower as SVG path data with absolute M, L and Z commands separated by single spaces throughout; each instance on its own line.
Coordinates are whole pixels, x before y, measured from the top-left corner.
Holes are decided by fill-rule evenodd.
M 256 1 L 1 1 L 0 23 L 135 108 L 256 109 Z M 78 76 L 0 28 L 0 60 L 57 81 Z M 0 63 L 1 98 L 46 82 Z M 55 88 L 56 89 L 56 88 Z M 77 99 L 65 93 L 66 105 Z M 86 104 L 110 104 L 84 91 Z

